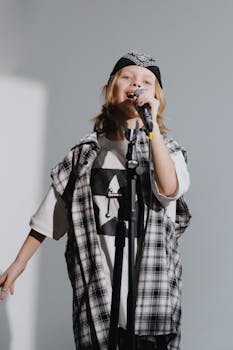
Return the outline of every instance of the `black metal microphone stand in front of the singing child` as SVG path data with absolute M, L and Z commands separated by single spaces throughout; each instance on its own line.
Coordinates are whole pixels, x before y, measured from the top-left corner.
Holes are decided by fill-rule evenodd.
M 128 346 L 130 350 L 136 350 L 135 338 L 135 305 L 136 305 L 136 285 L 135 285 L 135 248 L 134 239 L 137 236 L 137 213 L 136 213 L 136 183 L 137 183 L 137 168 L 138 160 L 136 157 L 136 139 L 139 129 L 138 122 L 134 130 L 127 129 L 125 136 L 128 143 L 127 159 L 127 192 L 129 200 L 128 209 L 128 299 L 127 299 L 127 331 L 128 331 Z M 114 195 L 114 194 L 113 194 Z M 119 195 L 118 195 L 119 196 Z M 108 350 L 116 350 L 118 340 L 118 319 L 119 319 L 119 304 L 121 291 L 122 263 L 123 251 L 125 246 L 126 226 L 123 220 L 119 220 L 116 229 L 115 238 L 115 261 L 113 270 L 112 282 L 112 302 L 111 316 L 108 338 Z

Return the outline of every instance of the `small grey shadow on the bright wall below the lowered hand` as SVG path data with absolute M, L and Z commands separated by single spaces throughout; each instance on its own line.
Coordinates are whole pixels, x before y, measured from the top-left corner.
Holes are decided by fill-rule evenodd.
M 0 344 L 1 349 L 10 350 L 11 332 L 6 302 L 0 302 Z

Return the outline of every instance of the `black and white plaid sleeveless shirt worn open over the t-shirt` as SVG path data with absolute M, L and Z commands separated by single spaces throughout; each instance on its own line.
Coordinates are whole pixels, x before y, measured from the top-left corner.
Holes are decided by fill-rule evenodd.
M 165 142 L 171 153 L 182 150 L 186 157 L 175 141 Z M 91 168 L 98 150 L 97 135 L 92 133 L 68 153 L 51 176 L 62 196 L 78 161 L 65 253 L 73 288 L 75 342 L 77 349 L 98 349 L 98 339 L 99 349 L 107 350 L 111 300 L 106 290 L 90 187 Z M 138 135 L 137 150 L 140 165 L 148 166 L 148 141 L 143 131 Z M 148 204 L 150 189 L 143 176 L 141 181 L 144 202 Z M 190 217 L 181 197 L 177 200 L 174 224 L 153 196 L 140 260 L 135 331 L 150 337 L 167 334 L 171 339 L 169 350 L 180 349 L 181 261 L 177 238 L 188 226 Z

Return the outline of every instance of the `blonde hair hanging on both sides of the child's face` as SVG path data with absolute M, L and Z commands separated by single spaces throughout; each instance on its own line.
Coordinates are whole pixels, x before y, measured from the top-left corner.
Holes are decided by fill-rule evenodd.
M 105 98 L 105 102 L 102 105 L 101 113 L 93 118 L 94 131 L 97 132 L 114 132 L 118 128 L 118 122 L 111 119 L 111 114 L 114 111 L 114 86 L 115 82 L 120 75 L 121 70 L 116 72 L 116 74 L 110 79 L 108 84 L 104 85 L 102 89 L 102 94 Z M 165 127 L 163 120 L 163 112 L 165 110 L 166 101 L 164 97 L 164 92 L 157 79 L 155 79 L 155 97 L 159 100 L 159 109 L 157 114 L 157 123 L 161 134 L 166 134 L 167 128 Z

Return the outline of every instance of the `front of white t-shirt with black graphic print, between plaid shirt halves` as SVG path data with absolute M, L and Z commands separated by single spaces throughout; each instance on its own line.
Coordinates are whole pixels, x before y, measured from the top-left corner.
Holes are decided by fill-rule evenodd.
M 118 220 L 127 220 L 127 141 L 110 141 L 103 135 L 99 137 L 101 151 L 95 160 L 91 173 L 91 190 L 94 202 L 98 237 L 103 252 L 103 262 L 111 294 L 111 281 L 114 268 L 115 235 Z M 136 196 L 137 201 L 137 196 Z M 137 205 L 136 205 L 137 207 Z M 138 212 L 138 210 L 137 210 Z M 138 220 L 139 227 L 139 220 Z M 126 229 L 128 222 L 126 221 Z M 140 230 L 137 230 L 140 235 Z M 126 232 L 127 237 L 127 232 Z M 137 240 L 135 239 L 135 251 Z M 124 248 L 121 303 L 119 326 L 126 327 L 128 293 L 128 239 Z M 111 298 L 111 295 L 109 296 Z

